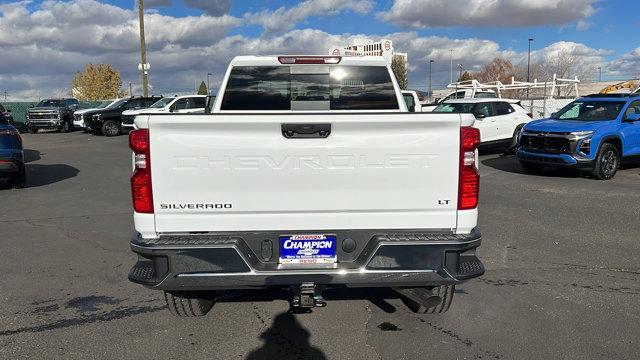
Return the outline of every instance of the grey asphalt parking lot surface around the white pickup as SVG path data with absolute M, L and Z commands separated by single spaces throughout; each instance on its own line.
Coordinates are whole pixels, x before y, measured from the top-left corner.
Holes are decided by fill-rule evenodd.
M 487 272 L 442 316 L 413 314 L 390 291 L 335 291 L 306 314 L 252 292 L 180 319 L 127 280 L 127 137 L 23 138 L 27 188 L 0 191 L 0 358 L 638 357 L 640 167 L 602 182 L 482 156 Z

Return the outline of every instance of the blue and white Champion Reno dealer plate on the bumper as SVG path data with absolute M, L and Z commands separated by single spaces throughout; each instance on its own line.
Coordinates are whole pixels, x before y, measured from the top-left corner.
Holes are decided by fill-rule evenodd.
M 335 262 L 335 235 L 280 236 L 281 264 L 330 264 Z

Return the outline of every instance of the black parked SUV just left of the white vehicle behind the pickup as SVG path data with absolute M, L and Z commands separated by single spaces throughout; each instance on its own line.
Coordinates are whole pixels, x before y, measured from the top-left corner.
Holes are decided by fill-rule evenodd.
M 104 109 L 87 111 L 83 114 L 85 127 L 98 135 L 120 135 L 124 111 L 148 108 L 161 98 L 162 96 L 134 96 L 120 99 Z

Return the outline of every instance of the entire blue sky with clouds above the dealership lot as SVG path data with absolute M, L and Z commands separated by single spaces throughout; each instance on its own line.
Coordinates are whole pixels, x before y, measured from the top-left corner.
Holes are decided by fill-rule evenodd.
M 450 56 L 477 70 L 495 57 L 522 66 L 572 57 L 571 76 L 640 73 L 640 1 L 635 0 L 146 0 L 147 44 L 156 91 L 190 92 L 202 74 L 219 83 L 231 57 L 326 53 L 359 38 L 391 38 L 409 53 L 409 80 L 449 81 Z M 0 1 L 0 90 L 23 97 L 68 87 L 88 62 L 107 62 L 138 86 L 133 0 Z M 86 38 L 84 38 L 86 37 Z M 454 52 L 451 52 L 453 50 Z M 541 75 L 542 76 L 542 75 Z M 33 88 L 37 86 L 38 89 Z M 125 86 L 126 87 L 126 86 Z

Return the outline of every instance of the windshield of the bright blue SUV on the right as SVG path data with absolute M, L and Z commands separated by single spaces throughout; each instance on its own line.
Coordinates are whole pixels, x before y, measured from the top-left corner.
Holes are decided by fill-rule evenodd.
M 556 120 L 603 121 L 618 117 L 625 101 L 577 100 L 551 118 Z

